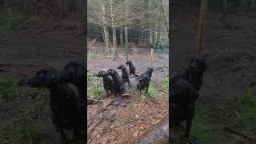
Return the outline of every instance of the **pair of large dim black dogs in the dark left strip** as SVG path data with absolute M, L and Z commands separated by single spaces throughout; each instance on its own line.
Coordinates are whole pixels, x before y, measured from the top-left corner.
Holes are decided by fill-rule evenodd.
M 86 121 L 86 64 L 70 62 L 64 70 L 53 68 L 39 70 L 26 84 L 50 90 L 51 118 L 61 136 L 59 143 L 69 143 L 64 130 L 73 130 L 74 141 L 85 142 Z

